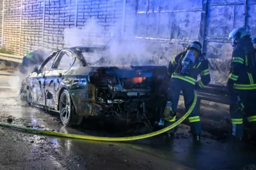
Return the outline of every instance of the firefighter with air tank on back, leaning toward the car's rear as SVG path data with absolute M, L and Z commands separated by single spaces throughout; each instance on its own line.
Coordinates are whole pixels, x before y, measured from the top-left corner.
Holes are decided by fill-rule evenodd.
M 201 50 L 201 43 L 193 41 L 188 49 L 179 53 L 168 66 L 171 81 L 168 90 L 169 99 L 163 113 L 166 126 L 175 122 L 180 91 L 183 93 L 185 108 L 188 111 L 195 97 L 195 89 L 202 88 L 211 81 L 208 60 Z M 199 74 L 201 78 L 197 80 Z M 189 122 L 194 139 L 200 141 L 202 129 L 197 107 L 189 115 Z M 168 131 L 168 134 L 173 134 L 173 130 Z

